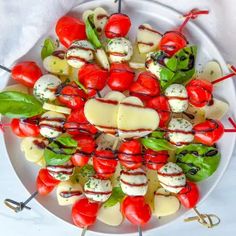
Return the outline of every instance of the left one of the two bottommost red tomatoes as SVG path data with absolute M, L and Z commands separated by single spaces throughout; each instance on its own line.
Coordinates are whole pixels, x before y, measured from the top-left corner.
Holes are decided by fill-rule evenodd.
M 99 203 L 90 202 L 87 198 L 78 200 L 72 207 L 72 220 L 80 228 L 93 225 L 96 221 Z

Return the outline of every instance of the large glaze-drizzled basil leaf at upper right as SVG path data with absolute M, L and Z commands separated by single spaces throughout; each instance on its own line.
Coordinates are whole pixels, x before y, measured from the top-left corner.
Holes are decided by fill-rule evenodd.
M 187 82 L 195 74 L 197 47 L 189 46 L 179 50 L 174 56 L 165 61 L 160 71 L 162 89 L 173 83 Z

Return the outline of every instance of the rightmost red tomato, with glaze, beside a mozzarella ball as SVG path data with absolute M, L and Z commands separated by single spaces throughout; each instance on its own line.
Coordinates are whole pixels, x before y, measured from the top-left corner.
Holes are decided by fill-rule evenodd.
M 193 131 L 197 142 L 212 146 L 224 134 L 224 126 L 219 120 L 206 120 L 195 125 Z

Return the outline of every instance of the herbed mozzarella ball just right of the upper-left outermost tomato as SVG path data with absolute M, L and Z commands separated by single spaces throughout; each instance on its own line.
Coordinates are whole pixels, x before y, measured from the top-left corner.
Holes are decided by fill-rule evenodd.
M 56 89 L 61 83 L 55 75 L 43 75 L 34 84 L 34 96 L 42 101 L 53 101 L 56 99 Z

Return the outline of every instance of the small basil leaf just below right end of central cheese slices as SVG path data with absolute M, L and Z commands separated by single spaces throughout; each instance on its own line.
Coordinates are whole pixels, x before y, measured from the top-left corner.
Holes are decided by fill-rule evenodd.
M 142 138 L 142 144 L 149 149 L 154 151 L 163 151 L 163 150 L 175 150 L 175 148 L 165 139 L 156 139 L 153 137 Z

